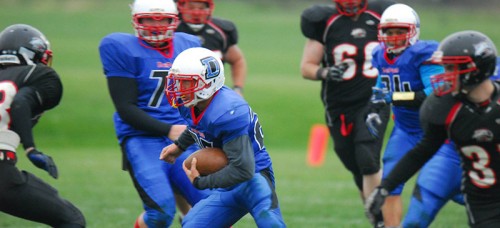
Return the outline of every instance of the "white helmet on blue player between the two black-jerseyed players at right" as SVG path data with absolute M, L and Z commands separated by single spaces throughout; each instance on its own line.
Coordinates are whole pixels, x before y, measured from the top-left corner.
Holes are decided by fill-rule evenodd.
M 386 32 L 391 28 L 407 29 L 407 33 L 389 36 Z M 399 54 L 407 47 L 415 44 L 420 35 L 420 18 L 417 12 L 405 4 L 389 6 L 378 25 L 378 40 L 383 42 L 386 51 Z M 401 44 L 399 44 L 401 42 Z

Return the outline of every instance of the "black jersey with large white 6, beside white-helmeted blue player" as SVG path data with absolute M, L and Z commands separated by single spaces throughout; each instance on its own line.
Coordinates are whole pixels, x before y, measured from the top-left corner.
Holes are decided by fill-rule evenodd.
M 328 111 L 338 113 L 369 100 L 378 75 L 371 64 L 372 50 L 379 43 L 377 26 L 383 11 L 392 4 L 386 0 L 369 2 L 356 21 L 333 6 L 314 5 L 302 13 L 303 35 L 325 47 L 323 66 L 349 63 L 344 81 L 322 82 L 321 97 Z

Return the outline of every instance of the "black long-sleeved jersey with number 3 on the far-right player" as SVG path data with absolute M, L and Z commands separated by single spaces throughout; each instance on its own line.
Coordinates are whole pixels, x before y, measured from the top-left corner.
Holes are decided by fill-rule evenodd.
M 412 149 L 411 158 L 402 159 L 401 169 L 394 170 L 384 180 L 392 188 L 396 182 L 407 179 L 451 139 L 460 153 L 462 190 L 470 200 L 484 202 L 500 200 L 500 82 L 495 82 L 495 93 L 488 105 L 478 106 L 451 94 L 429 96 L 420 110 L 425 129 L 423 140 Z M 404 161 L 403 161 L 404 160 Z M 412 167 L 412 168 L 409 168 Z M 396 174 L 399 173 L 399 174 Z M 395 175 L 392 175 L 395 174 Z M 396 177 L 399 176 L 399 177 Z

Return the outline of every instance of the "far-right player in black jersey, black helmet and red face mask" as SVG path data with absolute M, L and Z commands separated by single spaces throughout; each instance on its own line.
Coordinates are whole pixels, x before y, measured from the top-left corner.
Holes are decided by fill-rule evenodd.
M 388 192 L 407 181 L 449 138 L 460 154 L 462 192 L 471 227 L 500 227 L 500 83 L 497 50 L 477 31 L 441 41 L 432 60 L 446 72 L 431 78 L 434 93 L 420 109 L 424 137 L 370 195 L 366 209 L 378 213 Z

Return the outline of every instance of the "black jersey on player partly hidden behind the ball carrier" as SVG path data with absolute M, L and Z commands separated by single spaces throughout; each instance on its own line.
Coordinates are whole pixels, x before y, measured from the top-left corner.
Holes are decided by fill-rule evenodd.
M 185 22 L 182 22 L 176 32 L 197 36 L 201 40 L 202 47 L 220 54 L 223 61 L 229 47 L 238 43 L 238 30 L 234 23 L 217 17 L 212 17 L 199 31 L 193 31 Z

